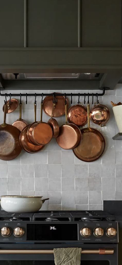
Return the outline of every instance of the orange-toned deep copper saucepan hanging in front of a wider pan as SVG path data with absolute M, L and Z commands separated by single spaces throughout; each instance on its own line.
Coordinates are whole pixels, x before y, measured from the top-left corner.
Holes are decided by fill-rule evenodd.
M 48 144 L 53 137 L 53 131 L 50 125 L 42 121 L 42 113 L 43 102 L 41 103 L 41 120 L 32 123 L 27 132 L 30 142 L 37 145 Z

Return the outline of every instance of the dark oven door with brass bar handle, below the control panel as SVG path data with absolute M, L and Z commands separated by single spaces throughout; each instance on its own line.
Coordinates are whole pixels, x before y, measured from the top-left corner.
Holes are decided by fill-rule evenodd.
M 81 265 L 118 265 L 117 244 L 46 244 L 45 248 L 40 244 L 4 244 L 4 246 L 6 248 L 0 245 L 1 265 L 54 265 L 53 248 L 64 247 L 82 248 Z

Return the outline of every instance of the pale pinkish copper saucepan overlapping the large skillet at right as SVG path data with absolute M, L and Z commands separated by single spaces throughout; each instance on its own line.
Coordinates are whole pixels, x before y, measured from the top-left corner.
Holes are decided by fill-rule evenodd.
M 64 149 L 73 149 L 81 142 L 81 131 L 76 125 L 67 123 L 67 103 L 65 104 L 65 117 L 66 123 L 59 128 L 56 141 Z

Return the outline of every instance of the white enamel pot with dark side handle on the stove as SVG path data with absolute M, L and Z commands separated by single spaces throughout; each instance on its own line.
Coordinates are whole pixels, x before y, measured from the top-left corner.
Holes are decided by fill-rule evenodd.
M 1 207 L 9 213 L 35 213 L 46 200 L 42 196 L 1 196 Z

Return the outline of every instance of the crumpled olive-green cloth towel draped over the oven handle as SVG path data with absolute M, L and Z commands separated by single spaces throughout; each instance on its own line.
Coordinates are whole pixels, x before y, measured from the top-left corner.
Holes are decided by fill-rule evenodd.
M 80 265 L 81 248 L 54 249 L 55 265 Z

